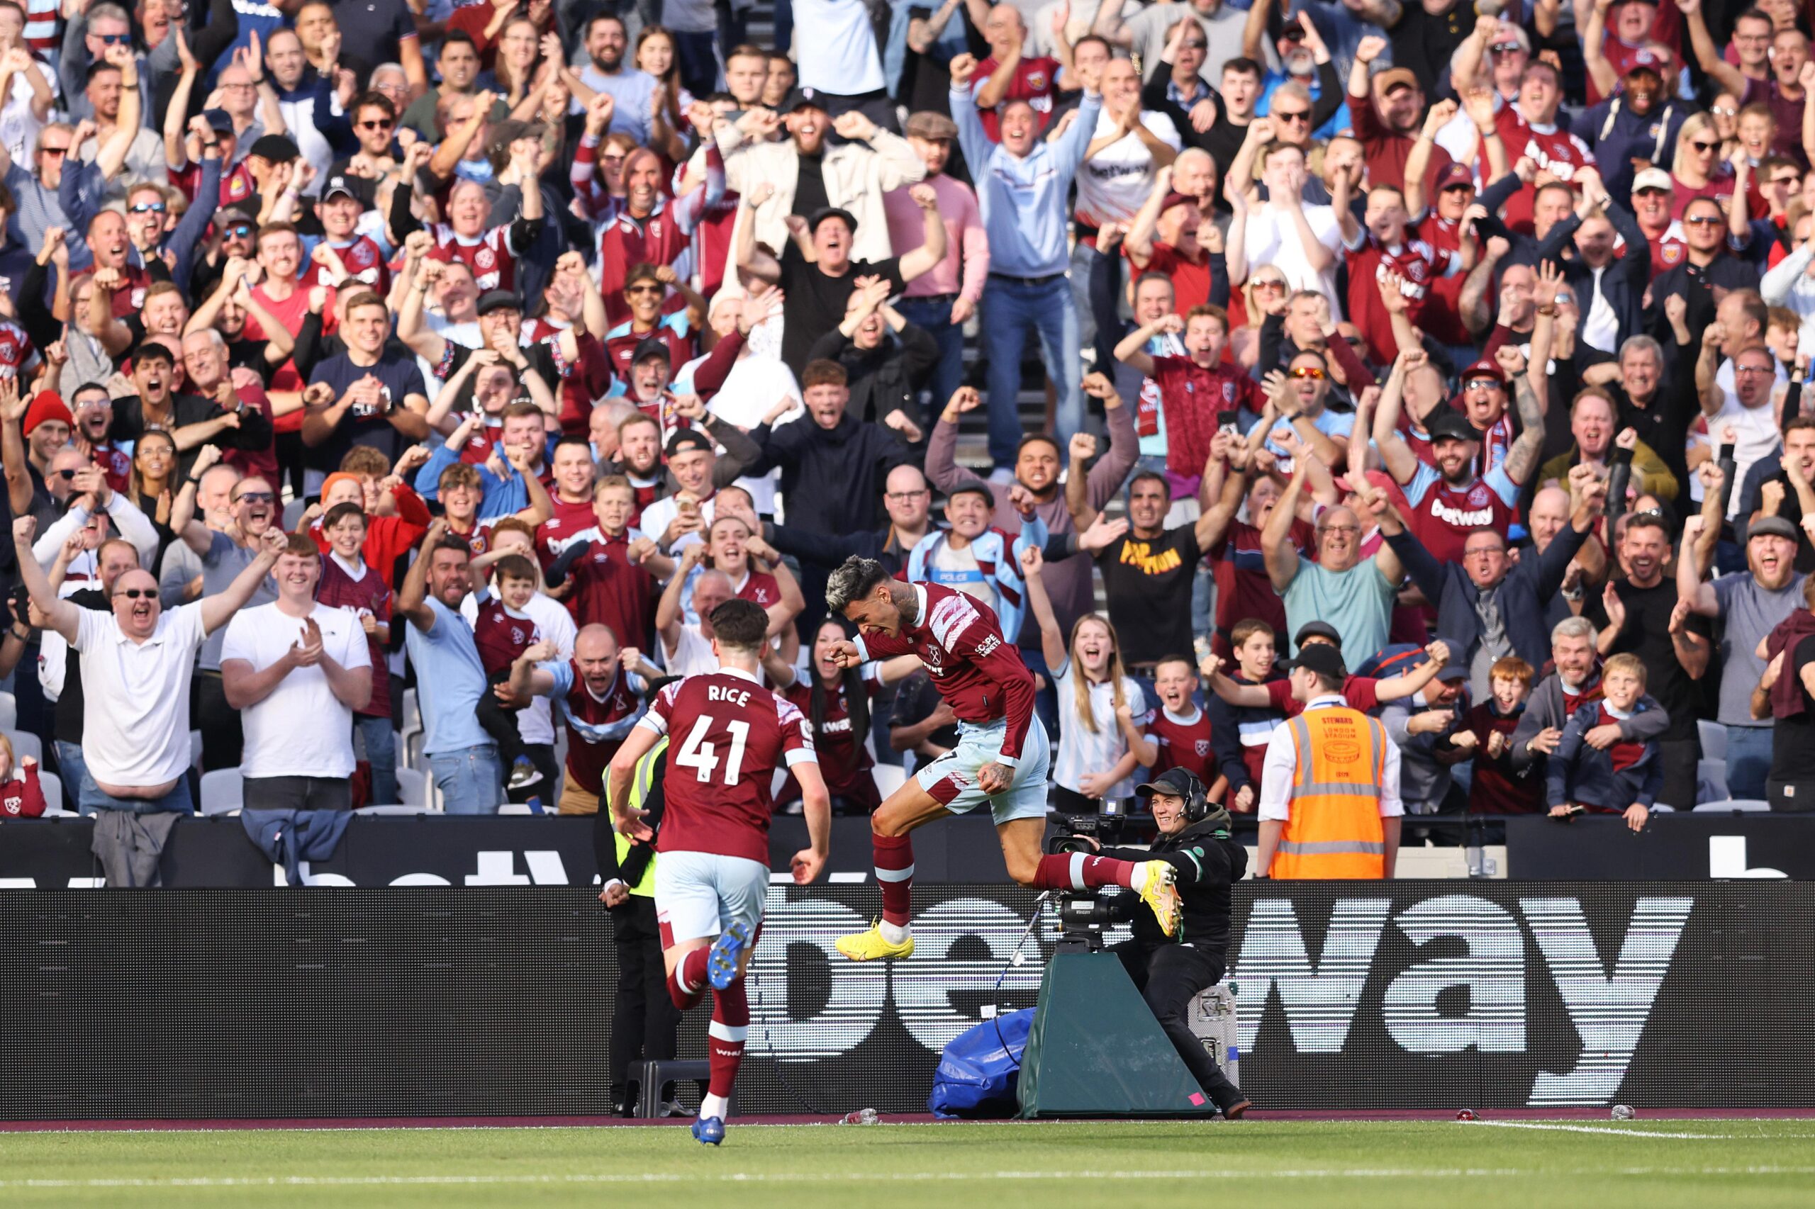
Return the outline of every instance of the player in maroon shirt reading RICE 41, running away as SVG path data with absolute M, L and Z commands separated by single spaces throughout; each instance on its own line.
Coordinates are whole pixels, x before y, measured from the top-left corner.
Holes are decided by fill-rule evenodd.
M 744 1060 L 744 969 L 770 890 L 770 782 L 784 761 L 800 786 L 811 844 L 793 857 L 797 884 L 819 877 L 831 842 L 831 797 L 819 775 L 809 722 L 757 681 L 768 628 L 770 615 L 750 601 L 731 599 L 711 610 L 719 670 L 662 688 L 612 757 L 606 786 L 613 826 L 632 839 L 650 839 L 643 811 L 630 810 L 630 781 L 637 761 L 670 737 L 662 782 L 668 802 L 655 844 L 655 922 L 675 1008 L 697 1004 L 708 982 L 713 991 L 711 1084 L 693 1122 L 693 1136 L 708 1145 L 724 1142 L 731 1084 Z

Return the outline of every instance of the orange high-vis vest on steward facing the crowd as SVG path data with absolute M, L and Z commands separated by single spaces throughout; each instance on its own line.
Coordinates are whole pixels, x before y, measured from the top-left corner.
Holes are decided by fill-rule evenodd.
M 1379 782 L 1387 772 L 1387 728 L 1347 706 L 1305 710 L 1287 726 L 1298 748 L 1292 813 L 1269 875 L 1385 877 Z

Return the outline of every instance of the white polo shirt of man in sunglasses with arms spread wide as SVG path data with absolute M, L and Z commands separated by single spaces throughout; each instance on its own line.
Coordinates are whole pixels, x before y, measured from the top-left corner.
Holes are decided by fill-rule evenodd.
M 189 683 L 203 639 L 200 604 L 167 608 L 143 643 L 111 612 L 80 612 L 82 755 L 96 781 L 158 786 L 189 772 Z

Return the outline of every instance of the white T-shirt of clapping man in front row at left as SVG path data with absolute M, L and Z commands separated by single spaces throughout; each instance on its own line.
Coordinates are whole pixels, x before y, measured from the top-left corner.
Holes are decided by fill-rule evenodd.
M 312 615 L 321 628 L 323 655 L 347 670 L 372 666 L 365 628 L 350 608 L 316 604 Z M 303 619 L 283 612 L 276 601 L 241 608 L 227 623 L 221 664 L 238 661 L 261 672 L 301 637 Z M 240 712 L 240 726 L 245 730 L 243 777 L 352 775 L 352 710 L 334 695 L 319 664 L 290 668 L 263 701 Z

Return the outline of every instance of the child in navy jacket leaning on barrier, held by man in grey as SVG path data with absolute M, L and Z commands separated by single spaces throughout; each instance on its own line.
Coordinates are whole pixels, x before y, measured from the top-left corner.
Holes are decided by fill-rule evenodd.
M 1657 741 L 1619 739 L 1619 722 L 1650 706 L 1644 697 L 1644 664 L 1637 655 L 1614 655 L 1601 668 L 1601 699 L 1581 704 L 1563 726 L 1563 739 L 1545 768 L 1546 801 L 1552 819 L 1574 819 L 1594 810 L 1623 813 L 1634 831 L 1644 830 L 1652 804 L 1664 784 Z M 1612 728 L 1614 742 L 1604 748 L 1590 735 Z M 1595 735 L 1599 737 L 1599 735 Z

